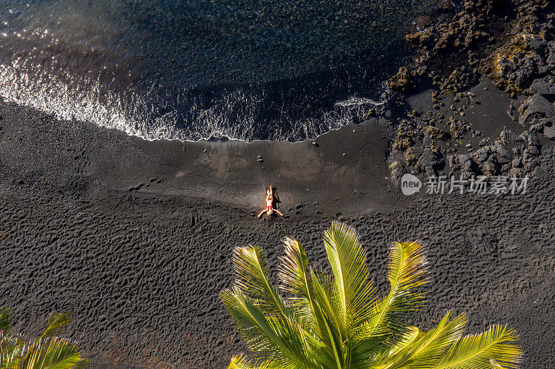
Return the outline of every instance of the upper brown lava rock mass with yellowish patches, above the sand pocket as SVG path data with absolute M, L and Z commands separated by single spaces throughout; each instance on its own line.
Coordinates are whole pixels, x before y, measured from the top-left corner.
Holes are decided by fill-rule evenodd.
M 537 93 L 554 93 L 553 81 L 543 80 L 555 66 L 554 12 L 554 1 L 466 0 L 458 12 L 444 10 L 440 21 L 405 37 L 412 62 L 388 87 L 406 93 L 429 80 L 455 93 L 488 76 L 513 96 L 532 82 Z

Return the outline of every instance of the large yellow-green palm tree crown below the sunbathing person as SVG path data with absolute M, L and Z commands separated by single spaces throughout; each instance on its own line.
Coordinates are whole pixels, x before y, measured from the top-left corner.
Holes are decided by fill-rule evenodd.
M 307 269 L 302 246 L 284 240 L 278 288 L 257 247 L 234 249 L 236 281 L 221 292 L 237 330 L 253 354 L 233 357 L 232 369 L 481 369 L 518 368 L 516 332 L 494 325 L 463 336 L 466 315 L 447 312 L 433 330 L 411 327 L 408 314 L 424 303 L 424 247 L 391 246 L 391 291 L 376 296 L 366 253 L 355 228 L 334 222 L 324 233 L 332 276 Z

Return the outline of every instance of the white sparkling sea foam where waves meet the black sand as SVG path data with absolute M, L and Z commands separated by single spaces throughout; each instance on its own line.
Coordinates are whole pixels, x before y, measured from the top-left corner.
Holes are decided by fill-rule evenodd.
M 68 73 L 49 73 L 40 66 L 15 60 L 12 64 L 0 65 L 0 96 L 53 114 L 62 120 L 81 120 L 100 127 L 119 129 L 126 134 L 146 140 L 178 139 L 198 141 L 210 137 L 226 137 L 242 141 L 258 138 L 256 117 L 264 100 L 264 92 L 247 92 L 235 89 L 223 93 L 210 107 L 193 104 L 187 112 L 191 122 L 177 127 L 181 112 L 172 110 L 159 114 L 151 98 L 136 91 L 126 91 L 124 96 L 105 92 L 99 80 L 75 78 Z M 164 105 L 164 102 L 160 102 Z M 355 116 L 364 116 L 373 106 L 384 101 L 368 98 L 348 98 L 336 102 L 332 109 L 324 111 L 318 118 L 294 121 L 289 132 L 280 127 L 267 127 L 270 138 L 285 140 L 306 136 L 315 138 L 331 129 L 350 123 Z M 287 117 L 286 117 L 287 118 Z

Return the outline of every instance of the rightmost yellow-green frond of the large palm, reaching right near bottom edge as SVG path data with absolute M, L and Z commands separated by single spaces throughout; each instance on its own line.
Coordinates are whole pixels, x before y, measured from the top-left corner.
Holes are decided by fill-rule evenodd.
M 517 340 L 515 330 L 494 325 L 487 332 L 456 341 L 432 369 L 518 368 L 522 350 L 513 344 Z

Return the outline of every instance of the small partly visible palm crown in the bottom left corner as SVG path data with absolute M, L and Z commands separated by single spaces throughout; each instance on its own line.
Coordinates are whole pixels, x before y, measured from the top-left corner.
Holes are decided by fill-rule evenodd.
M 12 311 L 0 309 L 0 369 L 76 369 L 85 368 L 74 343 L 58 337 L 71 322 L 69 313 L 52 314 L 46 329 L 34 341 L 24 341 L 12 334 Z

